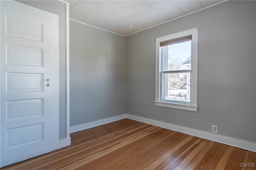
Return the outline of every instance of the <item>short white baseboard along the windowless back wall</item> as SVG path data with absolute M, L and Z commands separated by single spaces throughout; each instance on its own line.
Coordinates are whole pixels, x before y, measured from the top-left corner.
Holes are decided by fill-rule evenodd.
M 122 120 L 122 119 L 125 119 L 125 118 L 126 118 L 126 115 L 122 114 L 122 115 L 118 115 L 118 116 L 114 116 L 114 117 L 108 117 L 106 119 L 100 119 L 100 120 L 97 120 L 97 121 L 84 123 L 84 124 L 81 124 L 81 125 L 71 126 L 70 127 L 70 133 L 82 131 L 82 130 L 85 130 L 85 129 L 90 129 L 92 127 L 104 125 L 104 124 L 111 123 L 111 122 L 118 121 L 118 120 Z

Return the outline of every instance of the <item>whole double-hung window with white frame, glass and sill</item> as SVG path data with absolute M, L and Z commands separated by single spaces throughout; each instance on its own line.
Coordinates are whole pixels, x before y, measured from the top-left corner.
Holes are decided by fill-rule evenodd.
M 197 111 L 198 28 L 156 38 L 156 106 Z

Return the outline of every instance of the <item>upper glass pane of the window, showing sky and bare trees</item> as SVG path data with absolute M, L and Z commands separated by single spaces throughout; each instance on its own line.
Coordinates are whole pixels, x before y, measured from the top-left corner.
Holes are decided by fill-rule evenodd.
M 163 70 L 191 69 L 191 41 L 161 47 Z

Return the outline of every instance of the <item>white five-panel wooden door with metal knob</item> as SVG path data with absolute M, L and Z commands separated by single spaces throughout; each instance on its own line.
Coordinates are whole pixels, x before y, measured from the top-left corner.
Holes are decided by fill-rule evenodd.
M 58 16 L 44 14 L 1 1 L 1 167 L 52 151 L 52 115 L 58 114 L 52 101 Z

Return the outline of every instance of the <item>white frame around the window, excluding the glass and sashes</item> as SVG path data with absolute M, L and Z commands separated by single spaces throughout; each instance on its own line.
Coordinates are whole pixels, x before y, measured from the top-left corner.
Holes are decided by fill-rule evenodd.
M 161 94 L 161 51 L 160 42 L 192 35 L 191 40 L 191 72 L 190 72 L 190 104 L 180 104 L 174 102 L 162 102 Z M 189 111 L 197 111 L 197 63 L 198 63 L 198 27 L 173 33 L 156 38 L 156 75 L 155 75 L 155 106 L 170 107 Z

